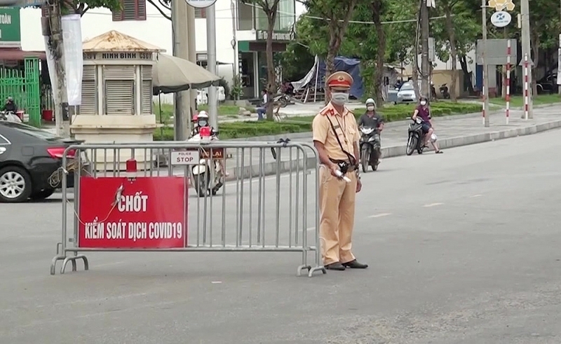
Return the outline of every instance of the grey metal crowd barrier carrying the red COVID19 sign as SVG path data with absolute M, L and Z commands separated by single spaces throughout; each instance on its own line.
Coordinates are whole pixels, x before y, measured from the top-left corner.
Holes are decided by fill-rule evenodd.
M 310 144 L 159 142 L 71 150 L 76 157 L 86 152 L 91 173 L 81 175 L 79 165 L 62 174 L 62 241 L 51 275 L 58 261 L 60 273 L 68 263 L 76 271 L 77 260 L 88 270 L 84 253 L 93 251 L 301 252 L 297 275 L 326 273 L 318 153 Z M 66 154 L 62 160 L 67 166 Z M 226 181 L 221 165 L 233 174 Z

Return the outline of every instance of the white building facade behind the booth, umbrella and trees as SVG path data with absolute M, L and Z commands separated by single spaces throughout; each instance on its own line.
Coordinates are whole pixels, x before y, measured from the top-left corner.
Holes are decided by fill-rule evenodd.
M 83 41 L 117 30 L 171 54 L 173 51 L 170 11 L 156 8 L 146 0 L 122 0 L 123 10 L 111 13 L 104 8 L 88 10 L 82 17 Z M 216 56 L 217 74 L 231 85 L 234 76 L 240 76 L 245 97 L 257 97 L 262 81 L 266 78 L 266 28 L 267 20 L 261 8 L 243 0 L 217 0 L 216 13 Z M 158 1 L 154 1 L 158 4 Z M 248 3 L 248 4 L 246 4 Z M 297 6 L 298 5 L 298 6 Z M 297 15 L 304 11 L 302 4 L 295 0 L 280 0 L 273 50 L 285 50 L 286 43 L 293 39 L 293 27 Z M 168 17 L 168 18 L 166 18 Z M 22 8 L 21 10 L 23 50 L 44 50 L 41 36 L 41 10 Z M 196 50 L 199 64 L 206 64 L 206 11 L 196 10 L 195 19 Z

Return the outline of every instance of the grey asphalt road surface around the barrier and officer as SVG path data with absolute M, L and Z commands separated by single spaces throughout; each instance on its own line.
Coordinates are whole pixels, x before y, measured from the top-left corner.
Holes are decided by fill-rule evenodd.
M 90 254 L 50 276 L 60 202 L 1 205 L 0 343 L 560 343 L 559 135 L 385 160 L 358 196 L 371 267 L 311 279 L 268 253 Z

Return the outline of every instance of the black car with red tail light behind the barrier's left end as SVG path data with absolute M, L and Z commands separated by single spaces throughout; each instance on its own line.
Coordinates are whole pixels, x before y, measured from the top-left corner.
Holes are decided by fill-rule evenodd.
M 22 123 L 0 121 L 0 202 L 48 198 L 60 188 L 65 149 L 79 143 Z M 68 151 L 69 163 L 75 153 Z M 68 187 L 74 186 L 73 176 L 68 174 Z

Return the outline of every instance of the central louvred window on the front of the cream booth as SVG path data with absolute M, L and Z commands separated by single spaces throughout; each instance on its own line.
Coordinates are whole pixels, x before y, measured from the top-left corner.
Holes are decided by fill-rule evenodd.
M 105 114 L 135 114 L 135 67 L 104 66 Z

